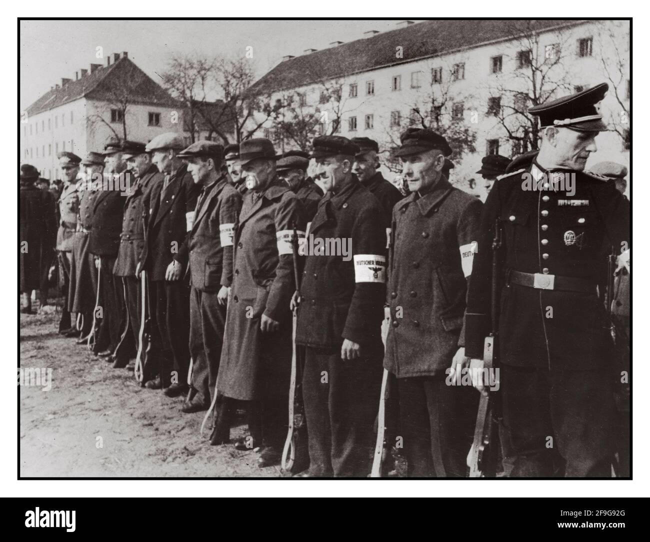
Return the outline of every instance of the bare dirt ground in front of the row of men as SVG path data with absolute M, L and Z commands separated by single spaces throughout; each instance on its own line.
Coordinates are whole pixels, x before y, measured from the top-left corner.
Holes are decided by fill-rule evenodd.
M 50 391 L 19 386 L 21 477 L 282 476 L 259 469 L 255 452 L 210 446 L 204 413 L 182 413 L 183 398 L 138 387 L 133 371 L 59 335 L 58 322 L 59 314 L 20 315 L 21 368 L 52 369 Z

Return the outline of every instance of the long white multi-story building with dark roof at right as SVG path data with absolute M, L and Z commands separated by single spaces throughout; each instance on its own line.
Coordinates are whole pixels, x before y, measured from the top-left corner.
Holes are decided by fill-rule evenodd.
M 601 110 L 611 131 L 598 136 L 588 166 L 629 165 L 629 31 L 628 20 L 402 21 L 394 31 L 287 55 L 251 92 L 270 99 L 283 123 L 296 118 L 303 132 L 374 138 L 385 173 L 399 169 L 390 150 L 401 131 L 436 129 L 454 147 L 452 180 L 469 188 L 484 155 L 535 148 L 528 107 L 604 81 L 610 91 Z M 304 143 L 276 127 L 265 124 L 276 145 Z

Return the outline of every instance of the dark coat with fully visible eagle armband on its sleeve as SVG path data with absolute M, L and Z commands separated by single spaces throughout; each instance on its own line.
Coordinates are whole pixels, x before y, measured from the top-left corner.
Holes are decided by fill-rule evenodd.
M 350 259 L 344 261 L 341 253 L 331 250 L 330 255 L 309 255 L 312 241 L 316 247 L 325 240 L 348 242 Z M 298 344 L 338 350 L 343 339 L 359 344 L 380 340 L 385 244 L 382 209 L 357 179 L 320 200 L 304 244 Z

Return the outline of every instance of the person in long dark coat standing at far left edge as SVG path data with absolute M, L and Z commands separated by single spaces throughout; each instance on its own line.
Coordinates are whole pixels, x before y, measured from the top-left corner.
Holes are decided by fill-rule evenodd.
M 38 170 L 31 164 L 20 168 L 20 291 L 23 307 L 32 314 L 32 290 L 40 289 L 40 304 L 47 305 L 47 272 L 57 232 L 54 196 L 34 185 Z

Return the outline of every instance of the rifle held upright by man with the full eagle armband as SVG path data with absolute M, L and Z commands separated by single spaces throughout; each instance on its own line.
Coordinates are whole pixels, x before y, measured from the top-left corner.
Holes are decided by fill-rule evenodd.
M 298 269 L 298 231 L 296 222 L 293 222 L 293 236 L 291 246 L 293 249 L 293 276 L 296 281 L 296 300 L 300 298 L 300 270 Z M 298 359 L 298 346 L 296 346 L 296 326 L 298 323 L 298 307 L 292 311 L 292 355 L 291 355 L 291 380 L 289 383 L 289 429 L 287 439 L 282 450 L 282 469 L 287 472 L 301 472 L 309 466 L 308 452 L 306 450 L 305 414 L 302 402 L 302 363 Z M 307 459 L 307 461 L 305 461 Z

